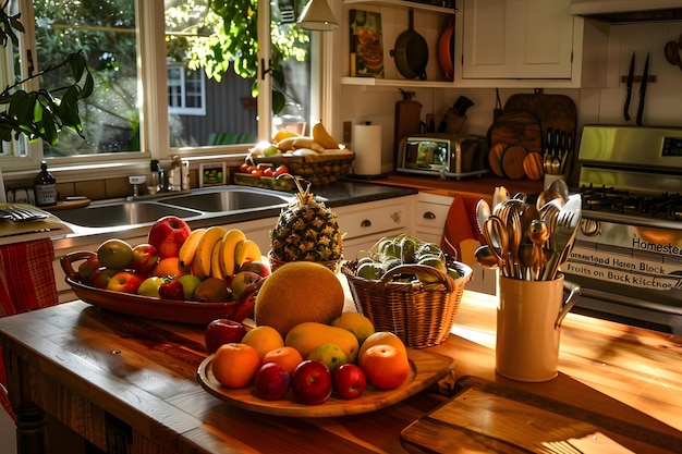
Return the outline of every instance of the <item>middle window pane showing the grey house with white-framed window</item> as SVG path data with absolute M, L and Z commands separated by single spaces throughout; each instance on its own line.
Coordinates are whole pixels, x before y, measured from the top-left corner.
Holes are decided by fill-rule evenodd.
M 258 125 L 251 95 L 253 79 L 238 76 L 230 68 L 218 82 L 207 78 L 203 68 L 187 68 L 193 44 L 207 39 L 222 24 L 208 3 L 208 0 L 166 0 L 172 147 L 256 140 Z

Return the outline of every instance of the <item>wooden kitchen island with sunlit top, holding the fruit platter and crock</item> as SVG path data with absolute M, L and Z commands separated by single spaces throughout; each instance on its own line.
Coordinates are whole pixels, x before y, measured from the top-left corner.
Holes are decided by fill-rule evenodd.
M 682 452 L 682 339 L 571 314 L 559 377 L 514 382 L 494 370 L 495 307 L 494 297 L 465 292 L 454 334 L 430 348 L 454 358 L 440 393 L 331 418 L 252 413 L 206 392 L 196 380 L 204 327 L 135 320 L 80 300 L 0 319 L 20 452 L 77 453 L 65 446 L 81 438 L 86 453 L 421 452 L 401 431 L 467 377 L 552 402 L 634 452 Z M 507 447 L 499 452 L 524 452 Z

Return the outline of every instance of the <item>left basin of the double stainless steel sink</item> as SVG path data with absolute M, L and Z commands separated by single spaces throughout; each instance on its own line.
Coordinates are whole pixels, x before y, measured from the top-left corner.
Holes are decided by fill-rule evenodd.
M 84 208 L 61 210 L 56 213 L 59 219 L 85 228 L 110 228 L 155 222 L 165 216 L 191 218 L 200 216 L 195 210 L 171 207 L 154 201 L 120 201 L 113 204 L 94 204 Z

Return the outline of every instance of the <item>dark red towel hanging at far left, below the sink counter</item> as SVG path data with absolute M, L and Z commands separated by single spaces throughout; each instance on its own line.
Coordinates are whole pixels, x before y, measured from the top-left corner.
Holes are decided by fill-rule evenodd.
M 13 316 L 59 303 L 50 238 L 0 246 L 0 317 Z M 0 384 L 7 385 L 0 348 Z M 13 416 L 3 386 L 0 404 Z

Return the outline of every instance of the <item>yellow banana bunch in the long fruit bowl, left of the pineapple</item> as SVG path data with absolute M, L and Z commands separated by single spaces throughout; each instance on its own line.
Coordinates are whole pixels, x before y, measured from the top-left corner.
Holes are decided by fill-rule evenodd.
M 246 261 L 260 261 L 260 248 L 239 229 L 215 225 L 195 229 L 183 243 L 180 261 L 196 277 L 226 279 Z

